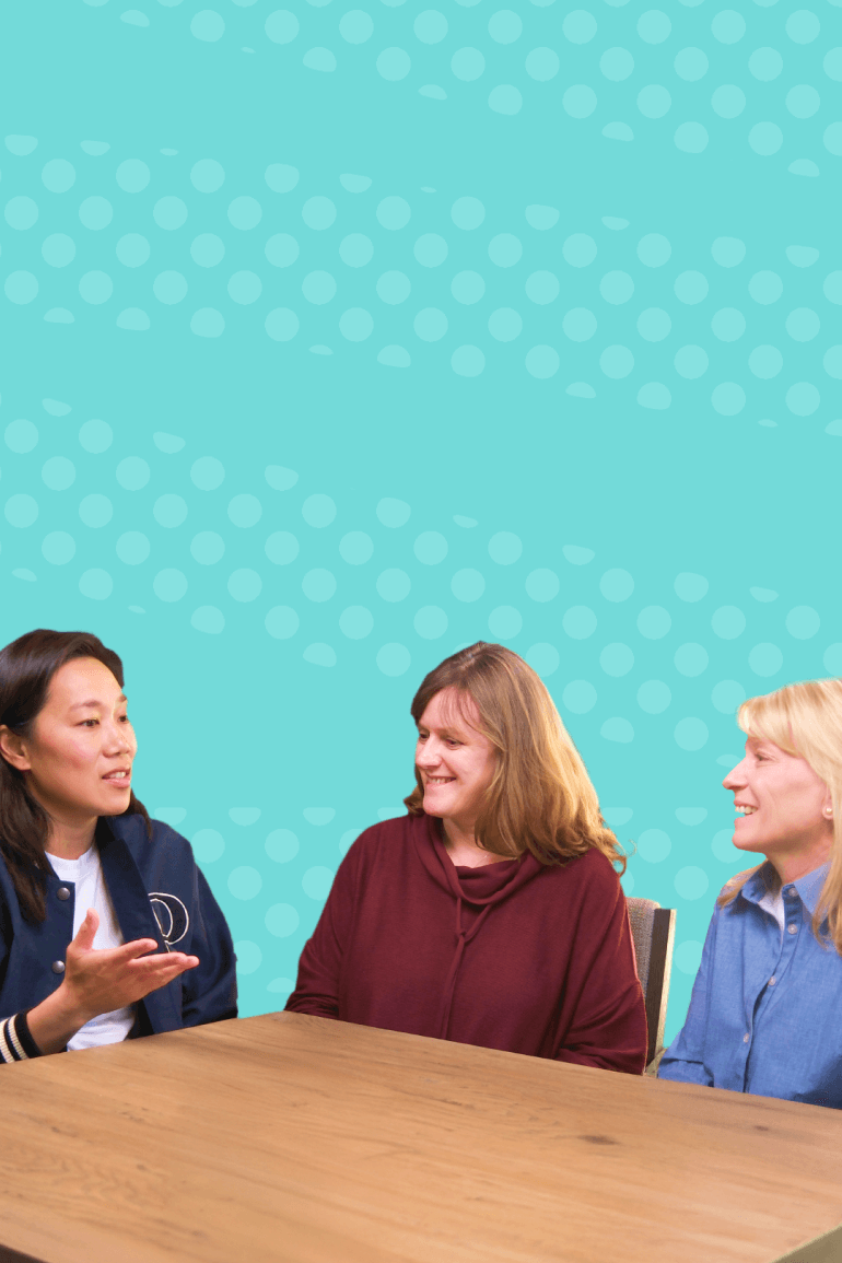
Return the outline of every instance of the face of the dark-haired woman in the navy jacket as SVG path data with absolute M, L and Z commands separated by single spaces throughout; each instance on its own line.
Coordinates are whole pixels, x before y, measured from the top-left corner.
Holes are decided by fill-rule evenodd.
M 83 825 L 127 808 L 138 743 L 122 690 L 96 658 L 59 667 L 32 736 L 10 736 L 4 754 L 56 822 Z

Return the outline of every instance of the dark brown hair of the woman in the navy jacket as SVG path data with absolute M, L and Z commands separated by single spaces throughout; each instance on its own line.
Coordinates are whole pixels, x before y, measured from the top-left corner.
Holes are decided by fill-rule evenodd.
M 53 676 L 74 658 L 96 658 L 122 688 L 122 663 L 88 632 L 28 632 L 0 650 L 0 724 L 32 738 Z M 125 815 L 138 812 L 151 832 L 149 813 L 134 792 Z M 0 755 L 0 854 L 6 861 L 20 908 L 29 921 L 44 921 L 49 864 L 44 850 L 49 817 L 27 788 L 27 778 Z

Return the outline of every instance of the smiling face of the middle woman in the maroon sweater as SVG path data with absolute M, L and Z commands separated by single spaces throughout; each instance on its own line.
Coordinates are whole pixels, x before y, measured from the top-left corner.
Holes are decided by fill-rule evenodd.
M 453 821 L 460 832 L 473 834 L 486 789 L 497 765 L 497 753 L 478 725 L 471 697 L 443 688 L 418 721 L 415 765 L 424 787 L 424 811 Z

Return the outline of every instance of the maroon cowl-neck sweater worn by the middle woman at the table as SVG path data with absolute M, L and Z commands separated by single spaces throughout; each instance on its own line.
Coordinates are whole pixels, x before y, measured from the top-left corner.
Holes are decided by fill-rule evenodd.
M 430 816 L 357 837 L 287 1008 L 631 1075 L 646 1060 L 625 897 L 605 855 L 454 868 Z

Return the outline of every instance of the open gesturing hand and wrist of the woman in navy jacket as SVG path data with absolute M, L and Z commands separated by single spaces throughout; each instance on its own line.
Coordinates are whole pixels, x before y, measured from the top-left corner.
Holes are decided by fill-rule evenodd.
M 120 947 L 95 947 L 100 918 L 88 908 L 76 938 L 67 949 L 62 985 L 27 1014 L 29 1032 L 42 1052 L 58 1052 L 86 1022 L 141 1000 L 165 986 L 198 956 L 154 952 L 154 938 L 135 938 Z

